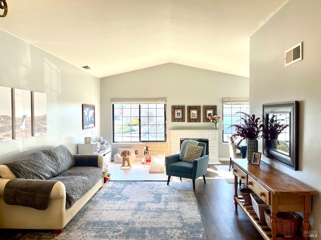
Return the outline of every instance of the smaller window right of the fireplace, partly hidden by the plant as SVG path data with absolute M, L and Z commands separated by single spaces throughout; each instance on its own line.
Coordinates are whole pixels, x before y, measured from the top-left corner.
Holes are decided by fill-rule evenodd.
M 230 125 L 237 124 L 239 119 L 244 114 L 237 113 L 238 111 L 249 114 L 248 97 L 223 97 L 223 142 L 227 142 L 226 135 L 235 133 L 235 127 Z

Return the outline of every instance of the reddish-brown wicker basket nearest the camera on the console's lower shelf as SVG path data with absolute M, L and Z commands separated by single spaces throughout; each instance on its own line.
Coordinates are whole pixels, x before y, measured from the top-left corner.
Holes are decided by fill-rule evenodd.
M 264 211 L 267 225 L 271 228 L 271 212 Z M 276 234 L 293 236 L 297 231 L 298 216 L 292 212 L 278 212 L 276 216 Z

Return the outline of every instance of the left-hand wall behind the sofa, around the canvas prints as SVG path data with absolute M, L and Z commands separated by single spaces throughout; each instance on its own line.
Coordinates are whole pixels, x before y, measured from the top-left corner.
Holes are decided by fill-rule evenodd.
M 47 93 L 47 134 L 0 141 L 0 163 L 59 144 L 73 153 L 100 134 L 100 81 L 85 70 L 0 30 L 0 85 Z M 96 106 L 96 127 L 82 130 L 82 103 Z

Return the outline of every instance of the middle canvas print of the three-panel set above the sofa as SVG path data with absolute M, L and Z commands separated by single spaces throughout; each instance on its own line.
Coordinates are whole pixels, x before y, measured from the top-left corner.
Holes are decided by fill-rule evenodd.
M 31 91 L 13 89 L 14 139 L 32 136 Z

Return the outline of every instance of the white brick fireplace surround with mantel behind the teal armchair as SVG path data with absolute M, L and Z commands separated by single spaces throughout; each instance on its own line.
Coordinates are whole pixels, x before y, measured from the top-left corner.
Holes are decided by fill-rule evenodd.
M 171 129 L 171 154 L 180 152 L 182 138 L 206 138 L 209 140 L 209 164 L 219 162 L 219 130 L 212 129 Z

